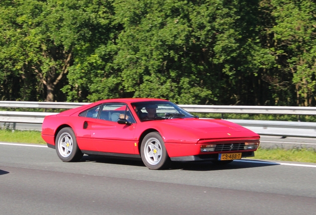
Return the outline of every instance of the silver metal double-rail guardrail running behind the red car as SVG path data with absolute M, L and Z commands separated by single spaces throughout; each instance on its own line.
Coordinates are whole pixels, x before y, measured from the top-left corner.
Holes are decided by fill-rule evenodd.
M 90 103 L 46 103 L 46 102 L 8 102 L 0 101 L 0 107 L 9 108 L 77 108 Z M 316 115 L 314 107 L 271 107 L 271 106 L 201 106 L 179 105 L 189 112 L 207 113 L 249 113 L 249 114 L 297 114 Z M 46 115 L 53 112 L 23 112 L 0 111 L 0 122 L 12 123 L 12 129 L 16 123 L 42 124 Z M 240 124 L 260 135 L 313 137 L 316 138 L 316 122 L 290 122 L 290 121 L 265 121 L 265 120 L 239 120 L 227 119 Z M 35 128 L 40 130 L 40 128 Z

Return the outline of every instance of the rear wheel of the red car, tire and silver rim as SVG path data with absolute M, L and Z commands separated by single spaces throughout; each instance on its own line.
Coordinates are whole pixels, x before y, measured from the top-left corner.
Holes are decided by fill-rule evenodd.
M 65 127 L 58 132 L 55 145 L 58 157 L 64 162 L 79 161 L 83 156 L 75 133 L 70 127 Z

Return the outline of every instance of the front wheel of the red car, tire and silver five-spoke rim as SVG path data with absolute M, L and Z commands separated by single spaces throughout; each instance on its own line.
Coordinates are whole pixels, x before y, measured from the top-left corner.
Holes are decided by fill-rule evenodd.
M 141 145 L 142 160 L 149 169 L 164 169 L 170 163 L 164 142 L 158 132 L 147 134 Z

